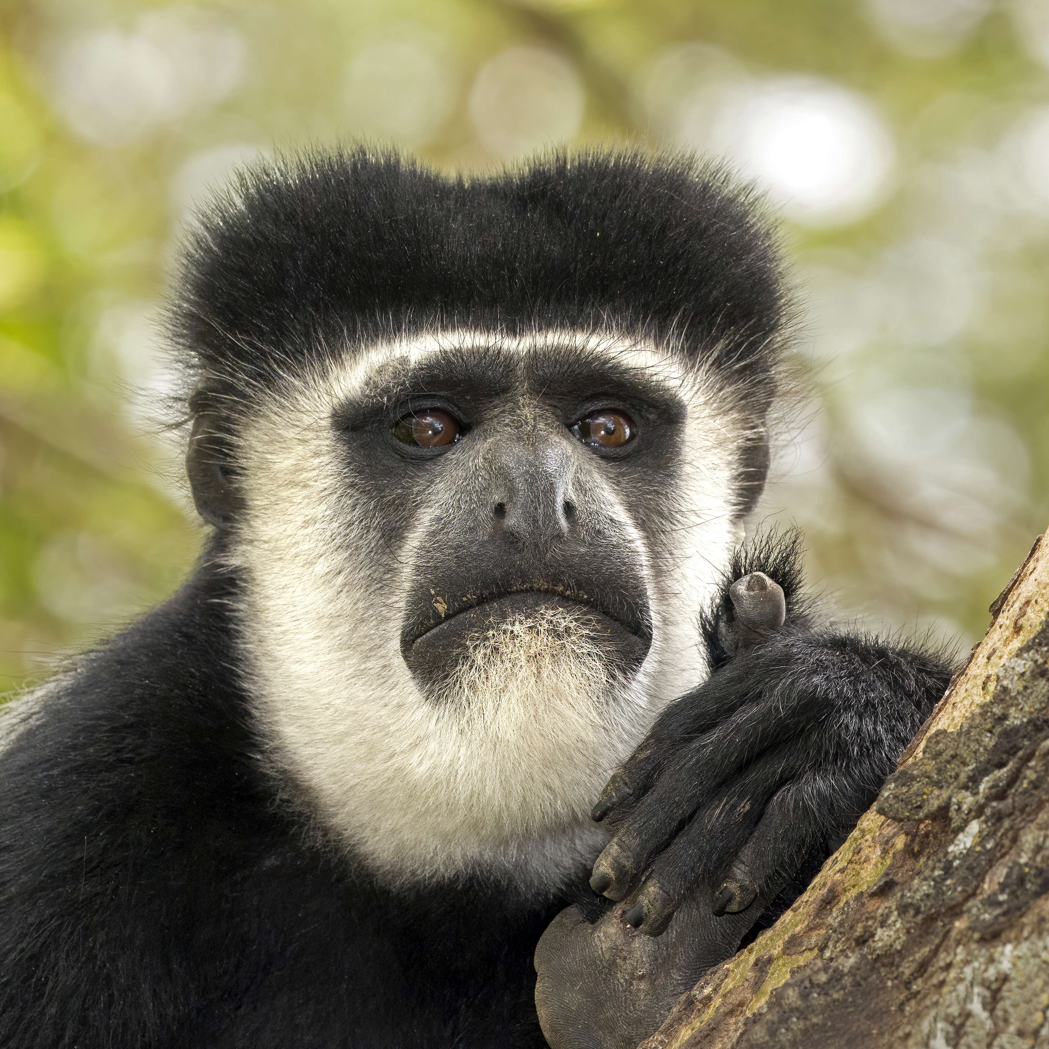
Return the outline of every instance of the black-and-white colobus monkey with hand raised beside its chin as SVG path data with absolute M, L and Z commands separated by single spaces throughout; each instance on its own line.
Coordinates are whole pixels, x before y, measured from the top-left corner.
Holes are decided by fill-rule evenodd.
M 731 956 L 944 690 L 741 547 L 790 304 L 716 171 L 262 165 L 168 316 L 209 537 L 4 718 L 4 1049 L 541 1046 L 559 912 Z

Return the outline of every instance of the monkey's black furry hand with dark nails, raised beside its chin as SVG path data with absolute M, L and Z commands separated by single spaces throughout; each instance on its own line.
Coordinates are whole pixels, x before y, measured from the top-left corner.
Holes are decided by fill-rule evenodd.
M 789 611 L 785 622 L 769 583 L 733 584 L 722 618 L 749 615 L 748 633 L 713 623 L 720 665 L 667 707 L 594 808 L 614 837 L 591 886 L 649 936 L 698 886 L 715 915 L 735 914 L 836 849 L 947 686 L 935 655 Z

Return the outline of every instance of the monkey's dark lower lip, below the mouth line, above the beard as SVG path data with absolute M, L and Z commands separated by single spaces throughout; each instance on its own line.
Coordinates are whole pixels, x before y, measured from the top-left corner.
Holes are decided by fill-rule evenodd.
M 594 641 L 609 660 L 623 670 L 636 670 L 648 654 L 650 639 L 633 634 L 622 623 L 593 605 L 582 604 L 556 594 L 527 592 L 508 594 L 457 613 L 405 646 L 404 659 L 413 673 L 429 676 L 436 664 L 457 661 L 461 646 L 469 636 L 492 629 L 507 620 L 531 617 L 558 609 L 585 622 Z

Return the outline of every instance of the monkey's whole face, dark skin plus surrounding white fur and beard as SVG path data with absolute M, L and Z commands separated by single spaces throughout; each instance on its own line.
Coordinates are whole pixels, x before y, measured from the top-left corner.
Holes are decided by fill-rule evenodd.
M 614 335 L 325 361 L 230 438 L 266 757 L 390 877 L 556 884 L 600 844 L 611 771 L 706 672 L 746 422 Z

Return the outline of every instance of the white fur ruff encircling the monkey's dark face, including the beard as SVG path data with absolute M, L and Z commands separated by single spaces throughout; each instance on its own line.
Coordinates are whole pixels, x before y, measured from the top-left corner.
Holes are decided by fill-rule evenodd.
M 532 635 L 516 664 L 474 668 L 494 688 L 488 702 L 435 703 L 400 649 L 412 542 L 428 521 L 405 550 L 382 542 L 376 508 L 347 485 L 333 411 L 380 368 L 448 346 L 513 355 L 565 343 L 644 368 L 688 404 L 683 484 L 667 493 L 675 519 L 688 523 L 672 530 L 675 550 L 664 549 L 658 571 L 629 508 L 605 492 L 643 566 L 651 647 L 631 680 L 596 682 L 600 663 L 582 644 L 575 654 L 548 645 L 530 663 L 522 652 L 532 644 L 534 654 L 537 635 L 526 624 Z M 479 872 L 552 886 L 576 874 L 606 840 L 588 813 L 608 776 L 663 706 L 706 675 L 697 619 L 741 536 L 730 498 L 741 441 L 702 371 L 626 339 L 444 330 L 290 377 L 240 435 L 247 508 L 232 553 L 244 579 L 245 675 L 267 759 L 327 831 L 390 882 Z M 513 687 L 526 679 L 527 690 Z

